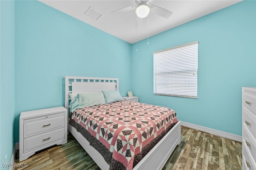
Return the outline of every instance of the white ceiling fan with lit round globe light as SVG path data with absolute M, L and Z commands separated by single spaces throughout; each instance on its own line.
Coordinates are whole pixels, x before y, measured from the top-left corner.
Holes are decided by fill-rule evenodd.
M 148 16 L 149 12 L 153 12 L 154 14 L 167 19 L 172 15 L 172 12 L 169 10 L 150 4 L 150 0 L 135 0 L 134 6 L 127 6 L 118 10 L 114 10 L 110 12 L 110 14 L 120 14 L 132 10 L 135 10 L 137 15 L 136 27 L 141 27 L 143 18 Z

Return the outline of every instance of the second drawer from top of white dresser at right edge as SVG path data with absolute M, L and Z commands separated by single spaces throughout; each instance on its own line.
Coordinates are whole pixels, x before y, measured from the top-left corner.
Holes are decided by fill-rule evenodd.
M 243 126 L 246 126 L 256 139 L 256 118 L 243 108 Z

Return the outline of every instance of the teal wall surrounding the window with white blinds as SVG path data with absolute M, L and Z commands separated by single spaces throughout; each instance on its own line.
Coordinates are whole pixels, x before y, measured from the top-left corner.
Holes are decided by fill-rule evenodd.
M 256 86 L 256 1 L 234 4 L 147 41 L 132 44 L 132 91 L 140 102 L 173 108 L 181 121 L 242 135 L 242 86 Z M 198 99 L 154 96 L 152 52 L 193 41 L 199 41 Z

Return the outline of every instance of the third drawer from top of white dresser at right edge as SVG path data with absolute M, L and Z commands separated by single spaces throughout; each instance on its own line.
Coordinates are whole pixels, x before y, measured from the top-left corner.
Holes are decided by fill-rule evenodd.
M 256 158 L 256 143 L 247 127 L 243 127 L 243 145 L 247 147 L 252 157 Z

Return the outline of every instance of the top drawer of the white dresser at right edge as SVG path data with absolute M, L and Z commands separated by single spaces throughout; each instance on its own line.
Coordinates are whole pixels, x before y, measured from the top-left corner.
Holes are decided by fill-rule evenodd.
M 256 95 L 248 92 L 244 92 L 243 106 L 252 111 L 256 115 Z

